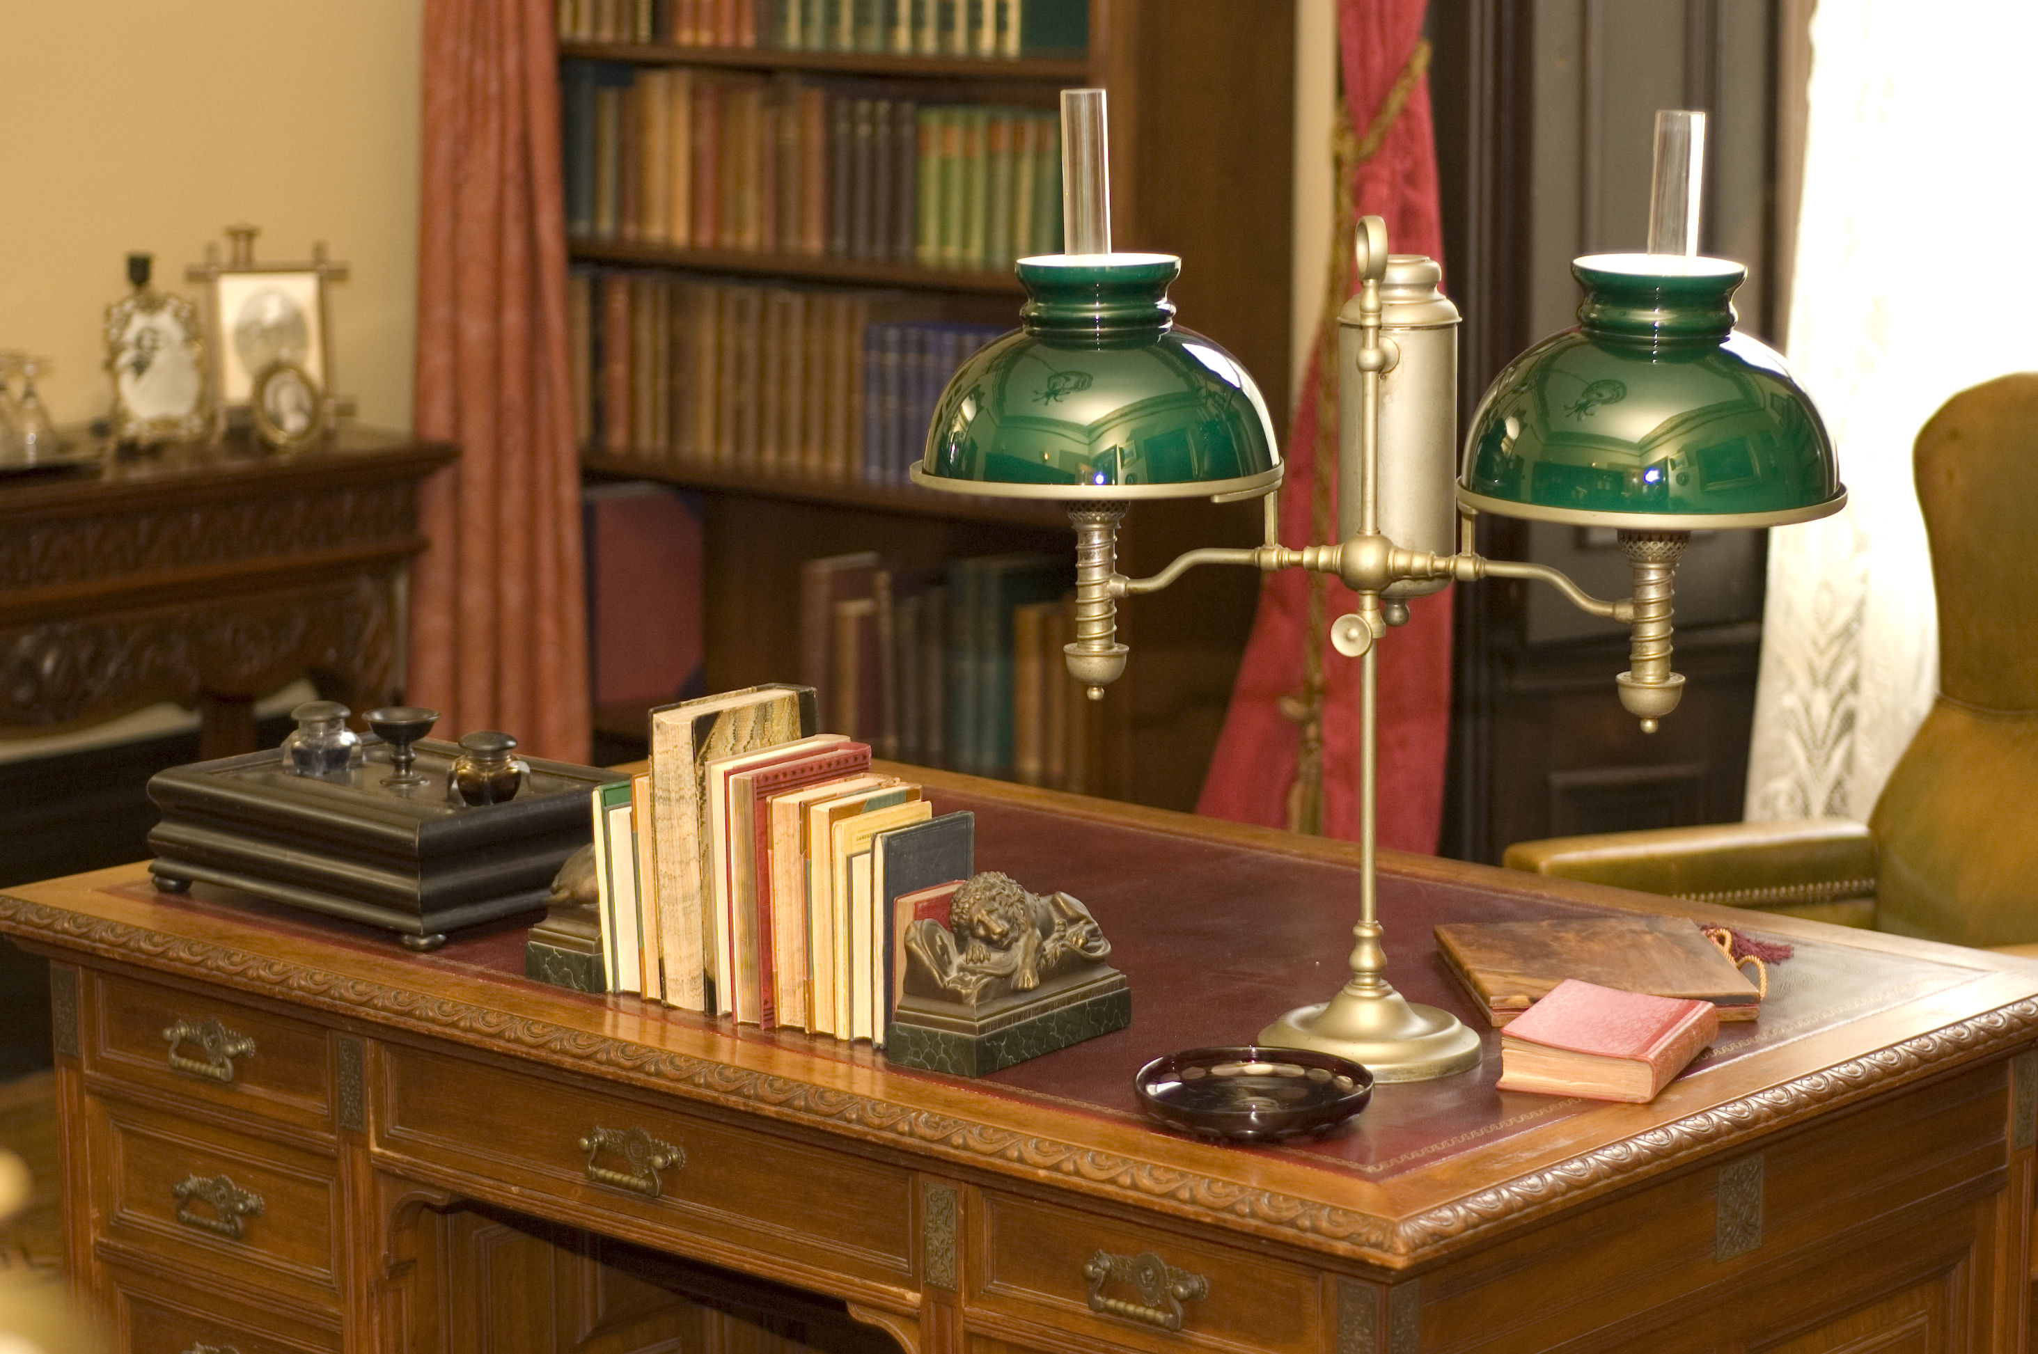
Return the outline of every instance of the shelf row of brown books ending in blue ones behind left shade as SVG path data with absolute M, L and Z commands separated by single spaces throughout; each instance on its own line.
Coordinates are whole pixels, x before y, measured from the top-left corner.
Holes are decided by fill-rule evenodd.
M 937 301 L 575 269 L 567 316 L 585 448 L 903 485 L 956 369 L 1001 328 Z

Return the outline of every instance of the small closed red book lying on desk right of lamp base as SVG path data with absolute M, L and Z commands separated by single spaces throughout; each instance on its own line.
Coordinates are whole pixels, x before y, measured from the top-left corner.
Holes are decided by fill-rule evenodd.
M 1718 1032 L 1712 1002 L 1567 977 L 1500 1030 L 1500 1089 L 1647 1104 Z

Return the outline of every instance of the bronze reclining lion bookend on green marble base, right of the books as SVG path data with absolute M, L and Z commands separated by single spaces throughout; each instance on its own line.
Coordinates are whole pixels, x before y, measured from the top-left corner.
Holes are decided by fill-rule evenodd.
M 1133 996 L 1107 955 L 1111 941 L 1078 900 L 978 873 L 956 890 L 946 926 L 907 926 L 884 1057 L 982 1077 L 1123 1030 Z

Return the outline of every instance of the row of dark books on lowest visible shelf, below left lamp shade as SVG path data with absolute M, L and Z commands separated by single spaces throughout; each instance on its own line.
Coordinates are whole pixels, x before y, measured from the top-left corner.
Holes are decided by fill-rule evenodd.
M 876 552 L 801 570 L 801 682 L 887 759 L 1054 790 L 1094 788 L 1090 702 L 1068 676 L 1066 556 L 907 568 Z

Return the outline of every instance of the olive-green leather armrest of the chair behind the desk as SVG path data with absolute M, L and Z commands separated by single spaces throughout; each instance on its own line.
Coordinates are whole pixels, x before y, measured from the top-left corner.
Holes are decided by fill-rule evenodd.
M 1714 823 L 1647 833 L 1545 837 L 1508 847 L 1508 869 L 1669 894 L 1730 908 L 1853 920 L 1832 904 L 1875 894 L 1875 839 L 1848 819 Z M 1806 910 L 1818 908 L 1818 910 Z

